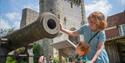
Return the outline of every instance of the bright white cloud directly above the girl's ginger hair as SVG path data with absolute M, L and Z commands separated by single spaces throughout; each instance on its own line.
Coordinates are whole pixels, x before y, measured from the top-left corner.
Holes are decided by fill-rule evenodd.
M 85 4 L 85 10 L 87 16 L 94 11 L 100 11 L 104 13 L 106 16 L 108 16 L 111 9 L 112 6 L 108 2 L 108 0 L 92 0 L 92 3 Z

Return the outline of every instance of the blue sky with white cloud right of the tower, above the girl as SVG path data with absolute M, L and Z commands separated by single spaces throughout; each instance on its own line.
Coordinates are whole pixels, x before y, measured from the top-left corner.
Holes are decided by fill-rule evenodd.
M 125 0 L 85 0 L 86 14 L 99 10 L 111 16 L 125 10 Z

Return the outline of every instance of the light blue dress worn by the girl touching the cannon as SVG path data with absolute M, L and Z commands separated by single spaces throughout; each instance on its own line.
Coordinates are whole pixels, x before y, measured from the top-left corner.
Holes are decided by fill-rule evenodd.
M 84 36 L 83 39 L 85 42 L 88 42 L 91 39 L 91 37 L 96 33 L 96 32 L 91 31 L 89 25 L 83 25 L 80 29 L 76 31 L 79 32 L 80 35 Z M 91 40 L 91 43 L 90 43 L 91 50 L 87 54 L 89 60 L 92 60 L 92 58 L 96 54 L 98 43 L 105 42 L 105 41 L 106 41 L 106 36 L 105 36 L 104 31 L 99 32 Z M 101 54 L 99 55 L 95 63 L 109 63 L 109 58 L 108 58 L 105 48 L 101 51 Z

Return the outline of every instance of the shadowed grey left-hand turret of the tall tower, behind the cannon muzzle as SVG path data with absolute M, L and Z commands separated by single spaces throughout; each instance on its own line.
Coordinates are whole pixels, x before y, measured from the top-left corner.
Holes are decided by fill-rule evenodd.
M 39 15 L 41 15 L 44 12 L 51 12 L 55 14 L 57 17 L 59 16 L 62 9 L 61 7 L 61 1 L 62 0 L 39 0 Z M 62 7 L 61 7 L 62 8 Z M 49 57 L 53 56 L 53 47 L 51 44 L 53 43 L 53 39 L 42 39 L 42 47 L 43 47 L 43 53 L 47 58 L 47 61 L 49 61 Z

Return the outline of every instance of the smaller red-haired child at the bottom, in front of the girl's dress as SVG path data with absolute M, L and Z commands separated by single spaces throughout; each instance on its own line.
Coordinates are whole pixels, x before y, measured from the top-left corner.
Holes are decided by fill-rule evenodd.
M 75 63 L 85 63 L 88 61 L 86 54 L 89 52 L 90 47 L 87 43 L 80 41 L 76 47 L 76 53 L 78 54 Z

